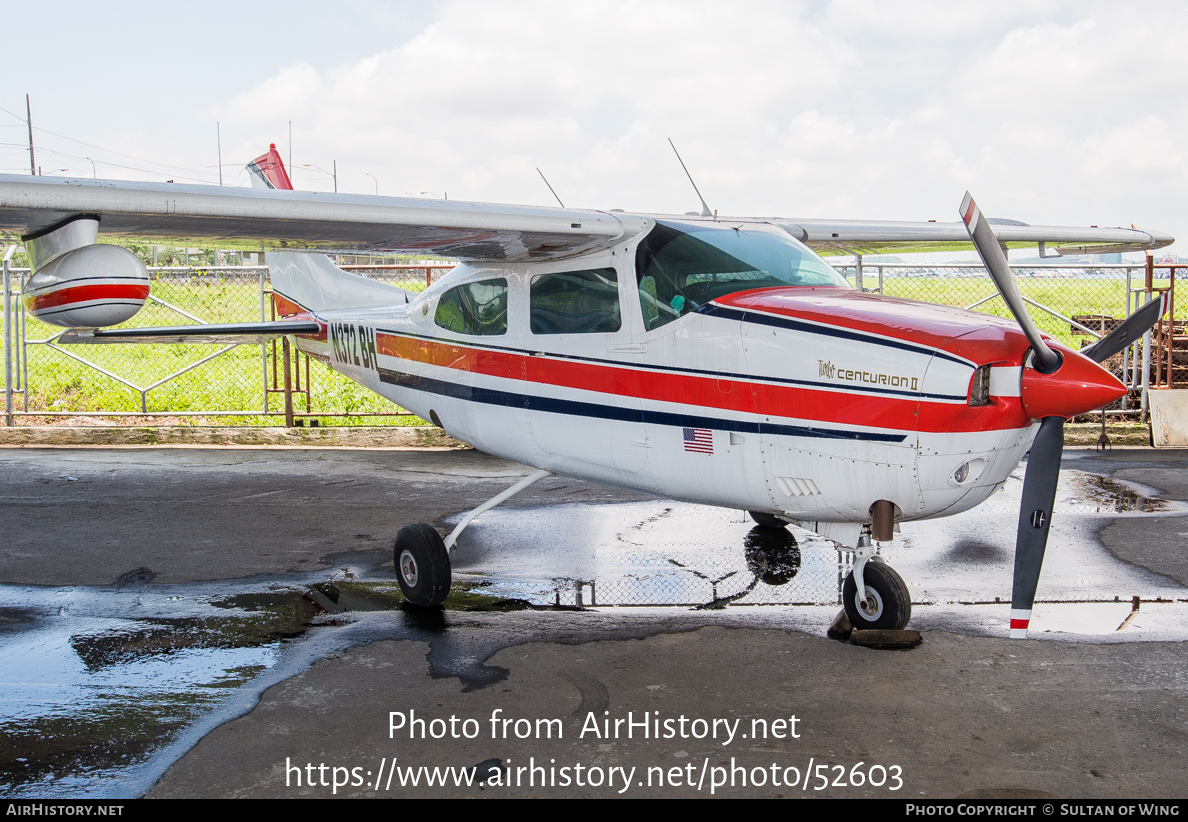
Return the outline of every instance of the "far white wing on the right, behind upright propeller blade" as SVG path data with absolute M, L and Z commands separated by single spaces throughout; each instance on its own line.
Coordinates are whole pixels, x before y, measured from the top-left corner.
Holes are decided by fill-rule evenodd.
M 973 248 L 965 223 L 867 220 L 772 220 L 817 253 L 886 254 L 895 252 L 966 251 Z M 1170 234 L 1138 228 L 1029 226 L 990 220 L 994 236 L 1010 247 L 1053 246 L 1060 254 L 1105 254 L 1150 251 L 1175 242 Z

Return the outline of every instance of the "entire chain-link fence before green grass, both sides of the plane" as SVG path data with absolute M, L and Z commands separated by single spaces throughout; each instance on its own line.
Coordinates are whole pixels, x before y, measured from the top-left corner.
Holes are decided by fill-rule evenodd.
M 272 316 L 266 266 L 152 266 L 152 292 L 145 308 L 124 327 L 183 323 L 249 322 Z M 244 260 L 238 252 L 203 252 L 202 259 Z M 249 261 L 258 259 L 248 255 Z M 396 261 L 339 257 L 342 267 L 380 282 L 422 290 L 451 266 L 435 260 Z M 1001 317 L 1010 314 L 985 270 L 977 265 L 839 264 L 847 279 L 868 291 L 944 305 L 971 308 Z M 1171 289 L 1173 270 L 1156 266 L 1155 293 Z M 11 268 L 13 290 L 6 339 L 11 335 L 14 412 L 18 419 L 38 417 L 178 417 L 207 422 L 276 424 L 284 418 L 283 371 L 277 344 L 268 346 L 58 346 L 61 329 L 37 321 L 20 306 L 20 290 L 30 272 Z M 1015 266 L 1019 290 L 1041 330 L 1072 348 L 1088 344 L 1137 310 L 1145 291 L 1140 265 Z M 1178 363 L 1188 350 L 1173 352 L 1188 301 L 1175 305 L 1176 324 L 1151 346 L 1151 385 L 1174 385 L 1177 372 L 1159 381 L 1157 363 Z M 1165 343 L 1164 343 L 1165 341 Z M 303 417 L 334 416 L 341 423 L 419 422 L 362 386 L 317 361 L 293 353 L 295 409 Z M 1133 394 L 1120 409 L 1142 403 L 1142 343 L 1107 361 Z M 1151 377 L 1154 374 L 1154 377 Z M 1170 382 L 1169 382 L 1170 380 Z

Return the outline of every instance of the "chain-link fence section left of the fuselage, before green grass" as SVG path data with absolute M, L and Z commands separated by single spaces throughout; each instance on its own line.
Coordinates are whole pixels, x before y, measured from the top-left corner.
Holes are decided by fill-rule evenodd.
M 453 266 L 425 261 L 343 267 L 419 291 Z M 266 266 L 152 266 L 148 273 L 148 302 L 120 328 L 272 318 Z M 30 270 L 11 268 L 8 274 L 13 293 L 6 325 L 18 418 L 151 415 L 272 424 L 284 417 L 279 346 L 59 346 L 62 329 L 21 308 Z M 291 356 L 302 416 L 333 416 L 340 423 L 421 422 L 321 362 L 296 352 Z

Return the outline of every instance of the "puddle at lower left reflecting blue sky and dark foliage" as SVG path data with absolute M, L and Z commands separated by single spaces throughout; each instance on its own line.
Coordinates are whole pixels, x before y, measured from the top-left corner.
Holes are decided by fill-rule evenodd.
M 144 569 L 141 569 L 144 570 Z M 127 576 L 127 575 L 126 575 Z M 273 666 L 311 627 L 402 611 L 392 581 L 99 588 L 0 586 L 0 797 L 103 791 L 228 694 Z M 447 608 L 532 607 L 459 575 Z M 129 590 L 129 588 L 134 588 Z M 409 614 L 418 627 L 440 614 Z

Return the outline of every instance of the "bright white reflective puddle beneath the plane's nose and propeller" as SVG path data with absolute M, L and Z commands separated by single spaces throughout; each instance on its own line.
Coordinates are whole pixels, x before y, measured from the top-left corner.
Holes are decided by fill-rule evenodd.
M 879 554 L 916 603 L 1009 602 L 1022 489 L 1019 469 L 973 511 L 904 523 Z M 1118 518 L 1188 512 L 1149 491 L 1062 472 L 1038 600 L 1188 596 L 1097 539 Z M 838 605 L 852 561 L 809 531 L 756 527 L 745 512 L 647 501 L 495 508 L 462 533 L 454 567 L 485 574 L 491 594 L 537 606 L 721 607 Z

